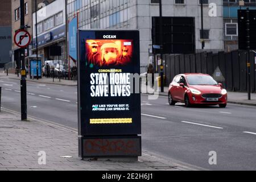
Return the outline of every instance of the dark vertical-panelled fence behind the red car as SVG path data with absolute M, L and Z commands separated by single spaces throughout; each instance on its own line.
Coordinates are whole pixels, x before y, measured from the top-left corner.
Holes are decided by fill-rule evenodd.
M 181 73 L 207 73 L 213 75 L 214 70 L 219 67 L 225 81 L 225 88 L 233 91 L 247 90 L 247 52 L 202 52 L 191 55 L 164 55 L 164 74 L 168 85 L 175 75 Z M 255 92 L 255 55 L 250 53 L 251 92 Z M 160 67 L 158 68 L 160 70 Z

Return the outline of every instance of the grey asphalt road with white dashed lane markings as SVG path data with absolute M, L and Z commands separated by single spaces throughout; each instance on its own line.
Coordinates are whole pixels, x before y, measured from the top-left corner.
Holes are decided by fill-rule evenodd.
M 2 107 L 20 112 L 18 80 L 0 78 Z M 256 169 L 256 108 L 186 108 L 142 95 L 142 150 L 210 170 Z M 77 129 L 77 87 L 27 82 L 28 115 Z M 209 152 L 217 164 L 209 164 Z

